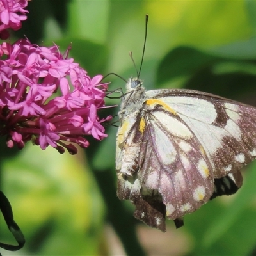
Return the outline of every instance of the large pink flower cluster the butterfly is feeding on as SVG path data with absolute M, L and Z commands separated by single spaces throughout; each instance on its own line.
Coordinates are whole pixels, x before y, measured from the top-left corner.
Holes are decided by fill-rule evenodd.
M 111 116 L 100 120 L 97 111 L 106 108 L 108 84 L 101 75 L 90 78 L 67 54 L 25 39 L 0 45 L 0 135 L 7 135 L 8 147 L 32 140 L 43 150 L 51 145 L 76 154 L 72 143 L 89 145 L 84 136 L 107 136 L 102 122 Z

